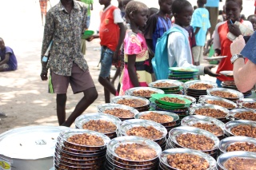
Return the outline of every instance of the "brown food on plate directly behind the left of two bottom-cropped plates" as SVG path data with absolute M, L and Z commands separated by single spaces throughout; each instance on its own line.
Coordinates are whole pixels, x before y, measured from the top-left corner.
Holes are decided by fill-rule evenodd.
M 193 148 L 200 151 L 214 148 L 214 140 L 204 135 L 186 133 L 176 136 L 176 140 L 184 148 Z

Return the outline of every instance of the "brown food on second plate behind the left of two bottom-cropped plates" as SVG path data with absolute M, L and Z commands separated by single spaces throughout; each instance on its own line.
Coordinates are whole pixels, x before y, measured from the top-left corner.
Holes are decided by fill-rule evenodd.
M 213 133 L 215 136 L 222 136 L 224 133 L 222 128 L 220 128 L 218 125 L 215 125 L 215 124 L 196 123 L 192 126 L 196 128 L 202 128 L 208 132 Z

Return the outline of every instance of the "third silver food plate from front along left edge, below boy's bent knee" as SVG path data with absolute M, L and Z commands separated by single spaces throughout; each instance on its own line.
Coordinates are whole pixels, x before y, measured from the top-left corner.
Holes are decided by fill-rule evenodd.
M 97 108 L 99 113 L 110 114 L 114 117 L 118 117 L 121 121 L 134 119 L 135 115 L 139 113 L 137 109 L 119 104 L 106 103 L 98 105 Z

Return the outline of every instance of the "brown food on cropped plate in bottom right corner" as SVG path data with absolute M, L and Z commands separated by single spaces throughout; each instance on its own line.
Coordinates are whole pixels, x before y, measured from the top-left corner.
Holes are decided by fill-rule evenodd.
M 256 159 L 232 157 L 224 163 L 224 167 L 227 170 L 252 170 L 256 169 Z

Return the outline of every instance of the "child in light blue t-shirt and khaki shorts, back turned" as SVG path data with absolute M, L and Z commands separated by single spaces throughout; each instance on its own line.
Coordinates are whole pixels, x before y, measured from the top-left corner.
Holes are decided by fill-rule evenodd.
M 200 65 L 206 34 L 210 28 L 209 12 L 204 5 L 206 0 L 198 0 L 198 9 L 194 10 L 190 26 L 193 26 L 196 46 L 192 48 L 194 65 Z

